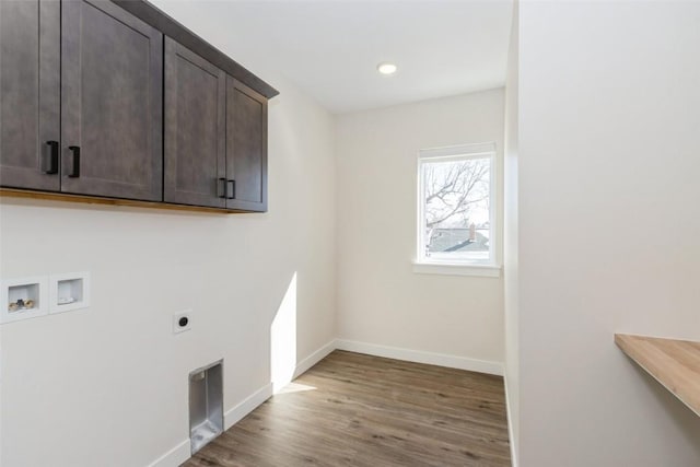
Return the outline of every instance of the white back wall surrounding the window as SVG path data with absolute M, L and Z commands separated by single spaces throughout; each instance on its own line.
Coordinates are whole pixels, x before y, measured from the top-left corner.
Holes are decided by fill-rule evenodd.
M 336 131 L 339 337 L 500 364 L 502 280 L 411 261 L 418 150 L 495 141 L 502 165 L 503 90 L 343 115 Z

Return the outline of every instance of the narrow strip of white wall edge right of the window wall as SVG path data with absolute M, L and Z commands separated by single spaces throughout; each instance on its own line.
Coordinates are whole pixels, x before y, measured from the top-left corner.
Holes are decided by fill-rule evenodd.
M 518 330 L 518 118 L 517 118 L 517 55 L 518 55 L 518 2 L 513 8 L 511 43 L 508 57 L 505 81 L 505 163 L 504 163 L 504 207 L 503 207 L 503 292 L 505 320 L 505 388 L 509 408 L 509 427 L 513 465 L 517 466 L 520 439 L 520 354 L 517 350 Z

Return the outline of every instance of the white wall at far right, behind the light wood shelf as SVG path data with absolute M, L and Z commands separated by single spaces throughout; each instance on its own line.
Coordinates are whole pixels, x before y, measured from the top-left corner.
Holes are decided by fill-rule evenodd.
M 612 335 L 700 339 L 700 3 L 520 17 L 521 466 L 698 466 Z

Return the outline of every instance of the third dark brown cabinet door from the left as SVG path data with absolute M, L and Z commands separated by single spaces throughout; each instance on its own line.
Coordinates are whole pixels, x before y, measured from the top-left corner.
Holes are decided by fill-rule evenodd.
M 165 38 L 167 202 L 223 208 L 225 73 Z

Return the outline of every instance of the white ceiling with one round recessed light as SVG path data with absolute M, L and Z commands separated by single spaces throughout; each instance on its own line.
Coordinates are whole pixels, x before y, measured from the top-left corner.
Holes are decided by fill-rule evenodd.
M 511 0 L 152 2 L 254 73 L 280 73 L 335 114 L 505 81 Z M 398 72 L 378 74 L 382 61 Z

